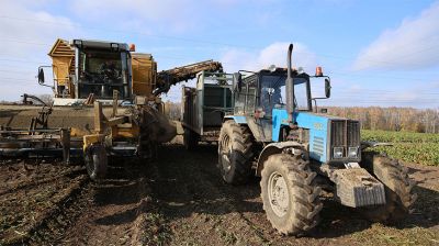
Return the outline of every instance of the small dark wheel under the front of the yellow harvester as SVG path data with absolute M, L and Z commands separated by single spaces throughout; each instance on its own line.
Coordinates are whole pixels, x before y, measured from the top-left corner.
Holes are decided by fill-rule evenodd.
M 92 180 L 102 179 L 106 174 L 108 157 L 103 145 L 91 145 L 86 150 L 87 172 Z

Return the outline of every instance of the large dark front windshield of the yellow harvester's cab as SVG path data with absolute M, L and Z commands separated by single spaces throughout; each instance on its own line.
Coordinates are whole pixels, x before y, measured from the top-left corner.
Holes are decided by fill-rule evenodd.
M 78 62 L 78 98 L 93 93 L 97 98 L 111 99 L 113 90 L 121 98 L 127 96 L 125 53 L 81 49 Z

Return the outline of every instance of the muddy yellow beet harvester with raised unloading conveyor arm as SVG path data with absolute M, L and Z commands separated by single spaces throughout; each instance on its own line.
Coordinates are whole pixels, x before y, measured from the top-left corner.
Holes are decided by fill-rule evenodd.
M 24 94 L 22 104 L 0 105 L 0 156 L 61 154 L 69 161 L 80 153 L 92 179 L 104 177 L 108 155 L 153 157 L 177 133 L 160 93 L 201 70 L 222 70 L 206 60 L 157 72 L 151 55 L 101 41 L 57 40 L 48 55 L 54 82 L 44 66 L 38 82 L 53 89 L 53 103 Z

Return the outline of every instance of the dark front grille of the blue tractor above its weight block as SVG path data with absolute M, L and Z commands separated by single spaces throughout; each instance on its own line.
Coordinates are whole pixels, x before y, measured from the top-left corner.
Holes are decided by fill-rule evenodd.
M 360 146 L 360 122 L 351 120 L 330 122 L 330 149 L 344 147 L 344 157 L 347 157 L 348 148 L 358 146 Z

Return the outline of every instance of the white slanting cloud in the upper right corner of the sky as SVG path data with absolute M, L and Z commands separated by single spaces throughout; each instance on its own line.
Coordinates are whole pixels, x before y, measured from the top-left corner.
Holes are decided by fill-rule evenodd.
M 416 69 L 439 65 L 439 2 L 384 31 L 357 57 L 353 69 Z

